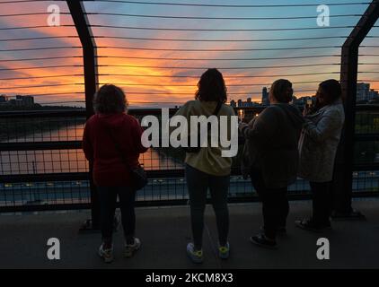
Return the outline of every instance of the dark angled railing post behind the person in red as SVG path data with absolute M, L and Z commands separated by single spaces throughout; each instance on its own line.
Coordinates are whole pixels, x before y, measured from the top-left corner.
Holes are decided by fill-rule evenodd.
M 84 61 L 84 89 L 85 89 L 85 109 L 86 117 L 93 116 L 93 95 L 97 91 L 97 55 L 96 44 L 93 38 L 93 32 L 89 26 L 87 15 L 85 14 L 84 4 L 78 0 L 66 0 L 68 9 L 75 23 L 75 29 L 83 47 Z M 100 222 L 100 203 L 96 187 L 93 184 L 93 163 L 90 162 L 90 189 L 91 189 L 91 213 L 92 221 L 89 228 L 98 229 Z

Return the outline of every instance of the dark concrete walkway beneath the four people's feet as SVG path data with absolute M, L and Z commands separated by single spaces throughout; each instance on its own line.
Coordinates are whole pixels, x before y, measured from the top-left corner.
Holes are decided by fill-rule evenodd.
M 137 236 L 143 246 L 133 258 L 121 257 L 122 232 L 115 234 L 115 261 L 97 257 L 99 233 L 79 233 L 87 211 L 0 215 L 0 268 L 378 268 L 379 200 L 354 203 L 366 222 L 333 222 L 333 230 L 312 233 L 296 229 L 295 219 L 311 210 L 311 202 L 292 202 L 288 235 L 278 239 L 278 250 L 251 245 L 252 231 L 260 229 L 260 204 L 231 204 L 231 257 L 216 256 L 216 222 L 207 207 L 204 232 L 205 262 L 193 265 L 186 257 L 190 240 L 188 206 L 137 209 Z M 49 261 L 47 241 L 60 240 L 61 259 Z M 330 239 L 331 259 L 316 258 L 316 241 Z

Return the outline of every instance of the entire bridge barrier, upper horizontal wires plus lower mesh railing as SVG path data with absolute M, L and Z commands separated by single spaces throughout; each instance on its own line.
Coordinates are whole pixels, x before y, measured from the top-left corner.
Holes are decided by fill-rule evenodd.
M 335 189 L 343 199 L 341 202 L 345 205 L 345 209 L 351 206 L 352 190 L 354 190 L 353 196 L 374 195 L 377 192 L 376 154 L 379 135 L 375 127 L 377 107 L 375 105 L 357 106 L 356 95 L 357 81 L 361 80 L 357 77 L 358 48 L 363 48 L 362 40 L 366 38 L 368 31 L 374 27 L 379 17 L 378 0 L 372 1 L 368 6 L 367 3 L 352 3 L 357 13 L 345 13 L 344 4 L 333 4 L 333 9 L 338 13 L 333 14 L 332 19 L 336 21 L 345 19 L 346 25 L 322 28 L 314 27 L 315 17 L 311 9 L 316 7 L 309 4 L 288 4 L 287 6 L 296 9 L 287 9 L 288 14 L 284 16 L 282 13 L 272 13 L 272 9 L 281 9 L 280 12 L 285 12 L 280 5 L 254 6 L 252 4 L 250 7 L 243 8 L 245 11 L 251 9 L 243 17 L 234 12 L 233 17 L 226 19 L 225 17 L 203 17 L 196 13 L 179 16 L 169 13 L 147 14 L 143 13 L 145 5 L 151 6 L 156 3 L 146 2 L 133 4 L 136 11 L 141 13 L 123 13 L 125 11 L 119 10 L 121 5 L 124 5 L 121 2 L 99 4 L 97 1 L 59 1 L 58 4 L 64 9 L 60 16 L 62 21 L 66 22 L 60 27 L 47 26 L 44 17 L 37 17 L 38 15 L 48 16 L 45 1 L 35 2 L 33 9 L 36 11 L 29 11 L 31 7 L 19 1 L 10 2 L 9 5 L 13 5 L 14 9 L 23 10 L 17 14 L 0 15 L 2 19 L 35 17 L 40 22 L 32 26 L 22 24 L 23 26 L 14 27 L 14 25 L 17 26 L 16 23 L 21 22 L 13 21 L 8 23 L 9 27 L 1 30 L 1 33 L 4 33 L 4 37 L 0 39 L 4 46 L 1 51 L 7 55 L 1 59 L 2 65 L 7 65 L 0 69 L 0 80 L 7 83 L 5 86 L 2 85 L 1 91 L 31 94 L 41 97 L 40 99 L 59 95 L 59 100 L 64 100 L 61 103 L 76 100 L 78 95 L 84 95 L 82 101 L 85 103 L 85 110 L 1 112 L 0 211 L 91 206 L 93 216 L 96 216 L 98 213 L 96 211 L 98 209 L 97 193 L 90 177 L 91 167 L 88 166 L 80 149 L 80 140 L 85 119 L 93 115 L 93 94 L 98 85 L 119 81 L 116 84 L 124 88 L 128 87 L 128 95 L 134 97 L 132 99 L 135 100 L 134 103 L 137 103 L 136 100 L 140 100 L 139 97 L 144 95 L 149 96 L 147 99 L 154 96 L 159 100 L 167 94 L 167 91 L 170 91 L 169 94 L 172 97 L 177 97 L 176 100 L 183 100 L 184 96 L 190 99 L 189 97 L 193 95 L 191 89 L 196 87 L 195 82 L 198 79 L 198 73 L 195 74 L 194 71 L 205 69 L 204 65 L 200 66 L 196 63 L 207 63 L 207 65 L 212 63 L 223 72 L 225 70 L 228 92 L 234 97 L 260 95 L 260 90 L 252 91 L 251 87 L 254 89 L 268 87 L 273 79 L 278 77 L 286 77 L 291 81 L 294 78 L 293 83 L 298 95 L 309 95 L 317 89 L 317 83 L 325 77 L 340 76 L 345 101 L 346 126 L 337 162 L 336 178 L 339 180 L 336 180 L 338 184 Z M 174 5 L 176 8 L 172 10 L 176 13 L 181 8 L 176 4 L 165 3 L 164 5 Z M 84 8 L 87 8 L 87 12 Z M 242 9 L 238 7 L 238 4 L 226 8 Z M 262 14 L 267 14 L 257 15 L 257 8 L 263 9 L 260 10 Z M 213 10 L 225 9 L 225 7 L 208 4 L 207 8 L 198 6 L 197 9 Z M 304 16 L 305 10 L 306 13 L 312 14 Z M 302 14 L 299 14 L 299 11 Z M 113 22 L 116 18 L 122 20 L 123 23 L 128 23 L 128 26 L 117 25 Z M 146 18 L 151 22 L 145 22 Z M 129 21 L 130 19 L 132 21 Z M 181 22 L 189 19 L 192 22 Z M 308 21 L 306 26 L 287 24 L 288 20 L 303 23 L 305 19 Z M 277 26 L 267 29 L 265 23 L 273 22 L 273 20 Z M 207 21 L 209 25 L 198 25 L 198 22 L 202 21 Z M 230 21 L 234 21 L 235 26 L 230 25 Z M 245 25 L 241 25 L 246 21 L 260 22 L 260 24 L 263 22 L 263 24 L 260 25 L 260 29 L 255 29 L 255 27 L 252 29 L 253 25 L 247 29 Z M 189 25 L 189 23 L 197 25 Z M 322 37 L 318 34 L 320 29 L 323 29 L 322 32 L 325 33 Z M 29 34 L 28 37 L 16 37 L 15 31 L 18 30 L 28 30 L 33 33 L 30 37 Z M 59 35 L 57 36 L 54 32 L 54 35 L 40 37 L 40 30 L 48 35 L 52 33 L 51 30 L 59 31 Z M 158 30 L 163 32 L 159 33 Z M 219 36 L 216 38 L 182 38 L 183 35 L 178 35 L 178 32 L 182 31 L 195 34 L 199 31 L 211 32 L 212 35 L 220 34 L 217 34 Z M 284 38 L 281 35 L 284 31 L 293 34 L 292 36 L 286 34 L 287 37 Z M 133 32 L 141 33 L 141 35 L 133 35 Z M 259 34 L 256 37 L 234 38 L 235 35 L 240 36 L 240 32 L 241 35 Z M 260 37 L 263 33 L 269 36 Z M 377 37 L 374 35 L 370 39 L 375 40 Z M 314 45 L 314 40 L 324 39 L 327 39 L 328 44 Z M 63 45 L 61 40 L 65 40 L 67 45 Z M 114 42 L 111 42 L 112 40 Z M 55 41 L 59 41 L 62 45 L 55 43 L 52 46 L 51 42 Z M 231 41 L 235 43 L 235 47 L 226 47 L 226 45 L 215 47 L 218 45 L 215 44 L 217 42 Z M 254 45 L 240 48 L 236 44 L 250 42 Z M 270 45 L 266 46 L 268 42 Z M 149 44 L 146 45 L 146 43 Z M 174 43 L 174 45 L 165 46 L 164 43 Z M 185 43 L 185 45 L 179 45 L 179 43 Z M 203 44 L 200 45 L 200 43 Z M 366 45 L 365 48 L 377 48 L 377 45 Z M 48 55 L 45 55 L 47 51 Z M 53 51 L 56 54 L 53 55 Z M 328 52 L 322 53 L 324 51 Z M 241 52 L 253 53 L 254 56 L 242 53 L 243 57 L 235 57 L 235 53 Z M 273 55 L 279 52 L 290 56 Z M 43 54 L 41 57 L 36 57 L 37 53 Z M 170 57 L 166 54 L 170 54 Z M 208 57 L 210 54 L 212 57 Z M 222 57 L 217 57 L 218 54 Z M 370 57 L 375 57 L 375 55 Z M 121 59 L 123 63 L 119 63 Z M 231 65 L 220 62 L 225 59 L 228 59 L 226 63 Z M 165 62 L 162 62 L 163 60 Z M 272 65 L 273 60 L 279 61 L 280 65 Z M 50 61 L 59 61 L 62 65 L 53 65 Z M 240 65 L 245 62 L 254 63 L 254 65 Z M 23 66 L 24 63 L 28 65 Z M 40 65 L 41 63 L 43 65 Z M 219 63 L 224 63 L 224 65 Z M 375 65 L 375 63 L 368 64 Z M 336 66 L 340 68 L 339 71 L 334 69 Z M 278 73 L 278 68 L 285 68 L 286 73 Z M 44 73 L 39 74 L 38 71 Z M 257 71 L 265 71 L 265 73 Z M 14 75 L 10 74 L 11 72 Z M 361 74 L 369 75 L 370 73 L 374 72 L 362 71 Z M 136 80 L 141 78 L 148 79 L 149 83 L 139 83 Z M 80 82 L 75 81 L 76 79 L 80 79 Z M 39 80 L 40 84 L 31 85 L 31 80 Z M 53 82 L 47 83 L 50 80 Z M 159 83 L 159 89 L 156 87 L 157 83 Z M 141 87 L 151 87 L 151 90 L 141 91 Z M 52 91 L 53 89 L 55 91 Z M 26 93 L 26 91 L 29 92 Z M 55 103 L 49 100 L 46 104 Z M 144 102 L 145 104 L 147 103 Z M 137 117 L 142 117 L 144 113 L 157 113 L 154 109 L 136 109 L 130 112 Z M 142 157 L 151 181 L 138 194 L 139 204 L 187 202 L 181 160 L 181 152 L 171 149 L 153 149 Z M 242 180 L 239 176 L 238 165 L 238 161 L 234 161 L 230 198 L 238 201 L 254 200 L 256 197 L 251 193 L 249 181 Z M 309 196 L 308 189 L 308 185 L 299 180 L 294 187 L 290 187 L 290 194 L 297 197 Z M 93 222 L 97 222 L 95 217 L 93 217 Z

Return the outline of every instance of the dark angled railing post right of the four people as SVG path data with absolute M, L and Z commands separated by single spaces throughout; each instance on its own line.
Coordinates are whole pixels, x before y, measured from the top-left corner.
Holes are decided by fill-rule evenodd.
M 379 0 L 374 0 L 342 46 L 340 82 L 345 108 L 345 127 L 336 159 L 334 217 L 357 217 L 351 206 L 356 125 L 358 49 L 379 16 Z

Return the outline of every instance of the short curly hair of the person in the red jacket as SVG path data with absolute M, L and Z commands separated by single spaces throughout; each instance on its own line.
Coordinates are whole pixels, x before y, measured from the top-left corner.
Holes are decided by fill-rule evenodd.
M 104 84 L 93 97 L 93 109 L 96 113 L 117 114 L 128 108 L 127 97 L 118 86 Z

